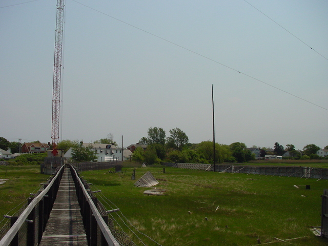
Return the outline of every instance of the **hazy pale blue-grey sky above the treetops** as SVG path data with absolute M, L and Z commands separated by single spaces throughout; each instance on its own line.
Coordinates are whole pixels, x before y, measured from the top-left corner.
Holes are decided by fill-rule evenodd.
M 51 142 L 55 0 L 0 1 L 0 136 Z M 66 0 L 59 140 L 328 145 L 328 2 Z

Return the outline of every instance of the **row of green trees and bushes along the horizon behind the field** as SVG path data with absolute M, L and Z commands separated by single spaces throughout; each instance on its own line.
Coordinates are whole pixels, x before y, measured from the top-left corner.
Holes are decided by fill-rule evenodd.
M 180 163 L 213 163 L 214 145 L 213 141 L 202 141 L 198 144 L 191 144 L 185 132 L 179 128 L 174 128 L 169 131 L 170 135 L 166 136 L 165 130 L 159 127 L 150 127 L 147 136 L 141 137 L 139 144 L 147 145 L 146 150 L 137 148 L 132 160 L 148 164 L 156 164 L 160 162 L 180 162 Z M 39 141 L 34 141 L 39 142 Z M 0 149 L 11 149 L 11 153 L 19 153 L 19 142 L 10 142 L 4 137 L 0 137 Z M 117 142 L 101 138 L 95 140 L 94 144 L 112 144 L 117 146 Z M 73 148 L 73 159 L 76 161 L 93 161 L 96 159 L 95 153 L 91 147 L 83 147 L 78 140 L 61 140 L 57 146 L 58 149 L 68 151 Z M 285 147 L 275 142 L 274 148 L 257 148 L 260 151 L 260 156 L 265 155 L 283 155 L 286 151 L 289 152 L 290 159 L 320 159 L 316 152 L 320 147 L 309 144 L 304 146 L 302 151 L 295 150 L 295 146 L 288 144 Z M 326 146 L 324 149 L 328 149 Z M 233 142 L 230 145 L 215 143 L 215 163 L 222 162 L 248 162 L 255 159 L 255 155 L 247 148 L 243 142 Z

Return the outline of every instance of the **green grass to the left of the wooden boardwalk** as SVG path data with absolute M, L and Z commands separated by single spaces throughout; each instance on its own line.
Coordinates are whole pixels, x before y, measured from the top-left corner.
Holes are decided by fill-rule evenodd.
M 0 166 L 0 179 L 8 179 L 0 185 L 0 221 L 3 215 L 17 212 L 30 193 L 37 192 L 40 183 L 47 178 L 49 175 L 40 174 L 39 166 Z M 20 203 L 22 204 L 18 206 Z M 16 206 L 18 207 L 11 211 Z M 0 228 L 6 221 L 7 219 L 0 223 Z

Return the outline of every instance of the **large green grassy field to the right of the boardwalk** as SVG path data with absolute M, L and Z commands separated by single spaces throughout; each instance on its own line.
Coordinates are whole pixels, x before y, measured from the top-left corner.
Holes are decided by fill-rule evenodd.
M 327 180 L 175 168 L 166 168 L 163 173 L 162 167 L 137 168 L 136 180 L 151 171 L 159 181 L 156 188 L 167 190 L 166 196 L 148 196 L 143 192 L 150 188 L 134 187 L 132 170 L 124 168 L 124 177 L 108 170 L 82 175 L 93 183 L 93 190 L 101 190 L 120 208 L 139 231 L 161 245 L 244 246 L 257 244 L 257 238 L 264 243 L 274 237 L 304 236 L 305 239 L 290 242 L 327 244 L 310 231 L 311 226 L 321 224 L 321 195 L 328 188 Z M 306 190 L 306 185 L 311 189 Z M 134 241 L 137 243 L 136 238 Z M 145 242 L 155 245 L 147 239 Z

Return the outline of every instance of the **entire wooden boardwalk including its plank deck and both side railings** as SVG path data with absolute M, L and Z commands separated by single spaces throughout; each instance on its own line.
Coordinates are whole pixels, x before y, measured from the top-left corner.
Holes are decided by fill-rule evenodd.
M 0 246 L 119 246 L 108 215 L 97 209 L 102 204 L 86 186 L 71 165 L 58 168 L 19 217 L 8 216 L 12 226 Z

